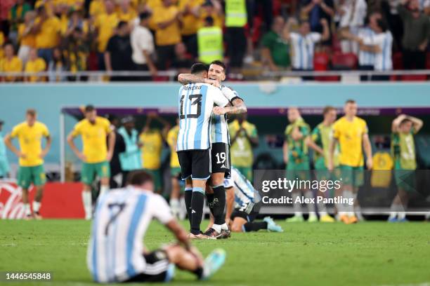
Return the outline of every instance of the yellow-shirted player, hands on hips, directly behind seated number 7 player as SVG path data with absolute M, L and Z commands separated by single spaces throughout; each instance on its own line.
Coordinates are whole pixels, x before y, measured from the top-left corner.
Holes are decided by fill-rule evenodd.
M 77 149 L 73 140 L 78 135 L 82 137 L 82 152 Z M 107 142 L 106 142 L 107 139 Z M 82 203 L 85 218 L 91 219 L 91 185 L 96 175 L 100 178 L 100 196 L 109 190 L 110 159 L 115 147 L 115 132 L 110 122 L 97 116 L 92 105 L 85 107 L 85 118 L 79 121 L 67 136 L 67 142 L 76 156 L 82 160 L 81 181 L 84 183 Z

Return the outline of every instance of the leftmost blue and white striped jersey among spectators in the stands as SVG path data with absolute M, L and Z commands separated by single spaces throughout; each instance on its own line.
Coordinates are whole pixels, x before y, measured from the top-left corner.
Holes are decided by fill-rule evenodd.
M 309 33 L 302 36 L 299 33 L 290 33 L 292 42 L 292 67 L 294 69 L 313 69 L 313 53 L 315 43 L 321 40 L 320 33 Z

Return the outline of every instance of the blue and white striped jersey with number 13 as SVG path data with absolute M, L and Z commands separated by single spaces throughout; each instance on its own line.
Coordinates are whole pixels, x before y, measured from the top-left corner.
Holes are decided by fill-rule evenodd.
M 228 99 L 207 83 L 190 83 L 179 88 L 179 132 L 176 151 L 211 147 L 211 116 L 214 105 L 225 107 Z

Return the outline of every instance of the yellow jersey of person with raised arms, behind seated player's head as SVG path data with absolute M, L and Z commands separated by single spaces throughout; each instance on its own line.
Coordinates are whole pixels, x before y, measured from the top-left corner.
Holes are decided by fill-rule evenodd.
M 161 152 L 163 138 L 158 130 L 142 132 L 139 140 L 143 144 L 142 167 L 149 170 L 157 170 L 161 166 Z

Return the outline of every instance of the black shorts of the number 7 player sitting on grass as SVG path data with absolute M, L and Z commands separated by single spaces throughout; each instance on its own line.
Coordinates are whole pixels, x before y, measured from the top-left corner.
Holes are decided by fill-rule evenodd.
M 145 271 L 126 280 L 126 282 L 164 282 L 170 280 L 169 259 L 164 250 L 155 250 L 148 254 L 143 254 L 145 257 Z

